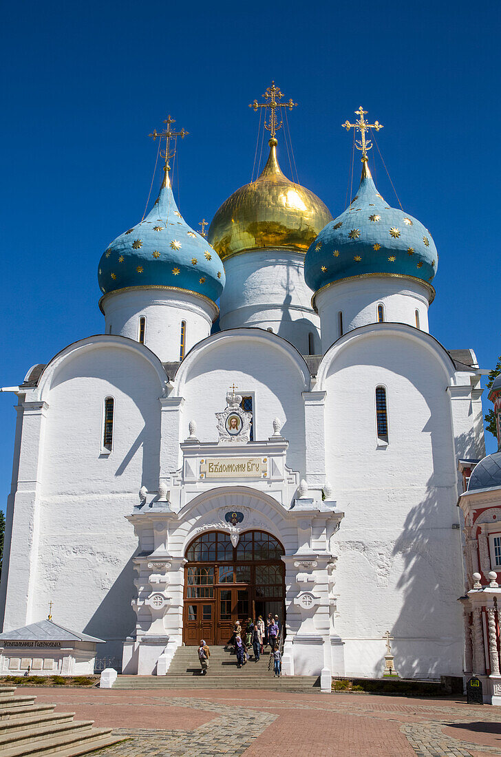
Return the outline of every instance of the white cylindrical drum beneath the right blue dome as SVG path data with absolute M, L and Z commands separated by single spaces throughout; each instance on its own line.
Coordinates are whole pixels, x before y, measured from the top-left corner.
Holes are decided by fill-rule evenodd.
M 412 279 L 390 276 L 361 276 L 359 279 L 337 282 L 319 291 L 315 304 L 322 326 L 322 353 L 340 336 L 339 313 L 343 313 L 346 334 L 359 326 L 378 321 L 378 305 L 384 307 L 384 320 L 416 326 L 415 311 L 419 311 L 419 329 L 428 332 L 428 288 Z

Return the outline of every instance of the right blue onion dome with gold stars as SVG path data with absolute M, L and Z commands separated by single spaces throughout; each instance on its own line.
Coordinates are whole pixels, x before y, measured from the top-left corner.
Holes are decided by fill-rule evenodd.
M 304 278 L 313 291 L 370 273 L 397 273 L 431 282 L 437 260 L 428 229 L 409 213 L 388 207 L 364 164 L 350 207 L 324 226 L 310 245 Z

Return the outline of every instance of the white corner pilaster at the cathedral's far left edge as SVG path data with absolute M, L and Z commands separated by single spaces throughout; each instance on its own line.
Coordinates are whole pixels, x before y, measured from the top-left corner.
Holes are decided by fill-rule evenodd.
M 27 401 L 20 403 L 16 409 L 18 413 L 23 413 L 23 421 L 5 597 L 5 631 L 42 619 L 33 618 L 31 612 L 36 591 L 39 494 L 48 404 Z M 4 566 L 6 568 L 7 565 Z

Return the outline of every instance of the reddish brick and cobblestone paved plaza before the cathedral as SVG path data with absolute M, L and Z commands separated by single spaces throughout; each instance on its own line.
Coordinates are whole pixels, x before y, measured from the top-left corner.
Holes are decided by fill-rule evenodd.
M 24 689 L 129 740 L 98 757 L 485 757 L 501 712 L 459 699 L 260 690 Z

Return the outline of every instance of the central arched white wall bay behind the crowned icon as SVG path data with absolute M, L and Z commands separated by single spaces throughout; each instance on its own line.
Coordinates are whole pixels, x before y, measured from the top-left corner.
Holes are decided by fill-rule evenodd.
M 226 334 L 226 332 L 225 332 Z M 273 341 L 272 341 L 273 340 Z M 263 441 L 273 433 L 272 421 L 279 418 L 282 436 L 288 439 L 287 464 L 304 475 L 304 375 L 274 338 L 237 332 L 219 335 L 204 345 L 186 363 L 178 392 L 185 397 L 182 408 L 181 438 L 188 438 L 188 422 L 197 423 L 200 441 L 217 441 L 215 413 L 226 407 L 229 387 L 239 394 L 254 394 L 254 440 Z M 306 366 L 305 366 L 306 367 Z M 180 458 L 179 458 L 180 459 Z

